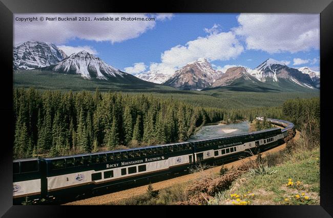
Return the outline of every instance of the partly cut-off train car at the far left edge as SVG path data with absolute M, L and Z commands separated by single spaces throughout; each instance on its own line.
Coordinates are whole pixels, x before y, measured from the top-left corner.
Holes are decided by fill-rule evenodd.
M 41 168 L 38 158 L 13 161 L 13 204 L 25 201 L 26 197 L 37 200 L 41 192 Z

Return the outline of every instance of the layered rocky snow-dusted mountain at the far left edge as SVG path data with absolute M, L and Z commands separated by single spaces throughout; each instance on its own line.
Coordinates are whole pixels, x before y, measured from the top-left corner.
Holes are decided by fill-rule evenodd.
M 47 67 L 66 57 L 66 53 L 54 44 L 28 41 L 13 47 L 13 70 Z

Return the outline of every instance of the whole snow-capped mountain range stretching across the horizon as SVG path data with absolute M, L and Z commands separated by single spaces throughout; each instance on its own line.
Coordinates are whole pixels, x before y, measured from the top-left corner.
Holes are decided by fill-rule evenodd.
M 319 89 L 320 73 L 308 67 L 290 68 L 268 58 L 255 69 L 242 66 L 216 70 L 206 58 L 188 63 L 175 72 L 148 71 L 131 75 L 116 69 L 87 51 L 67 54 L 54 44 L 29 41 L 13 47 L 13 70 L 75 74 L 96 81 L 171 86 L 180 90 L 260 87 L 265 89 Z M 28 73 L 28 72 L 27 72 Z

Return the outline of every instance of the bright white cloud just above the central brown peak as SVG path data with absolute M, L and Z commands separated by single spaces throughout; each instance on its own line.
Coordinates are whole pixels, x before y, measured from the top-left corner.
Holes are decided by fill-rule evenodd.
M 221 32 L 198 37 L 184 46 L 177 45 L 161 54 L 161 63 L 152 63 L 150 69 L 177 69 L 200 57 L 209 61 L 227 61 L 236 58 L 244 50 L 235 34 Z

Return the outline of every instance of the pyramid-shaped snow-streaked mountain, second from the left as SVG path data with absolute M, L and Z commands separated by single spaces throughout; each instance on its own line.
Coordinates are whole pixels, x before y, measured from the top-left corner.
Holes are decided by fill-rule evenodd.
M 71 54 L 58 64 L 43 68 L 43 70 L 52 70 L 66 74 L 79 74 L 84 78 L 97 78 L 100 80 L 108 80 L 108 77 L 124 77 L 130 75 L 108 65 L 99 57 L 95 57 L 87 51 Z

